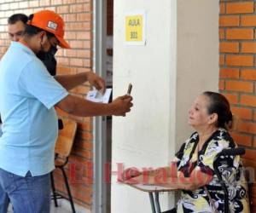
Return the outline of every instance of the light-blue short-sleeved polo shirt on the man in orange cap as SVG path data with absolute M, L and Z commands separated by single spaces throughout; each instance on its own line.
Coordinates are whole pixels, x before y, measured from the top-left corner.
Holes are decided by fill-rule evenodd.
M 55 168 L 58 134 L 55 104 L 68 95 L 37 56 L 11 43 L 0 62 L 0 168 L 18 176 L 42 176 Z

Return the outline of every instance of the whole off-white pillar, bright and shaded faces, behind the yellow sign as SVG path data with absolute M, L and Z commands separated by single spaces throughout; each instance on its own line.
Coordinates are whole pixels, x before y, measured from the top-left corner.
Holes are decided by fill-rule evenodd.
M 124 44 L 124 16 L 134 10 L 147 13 L 145 46 Z M 113 29 L 113 96 L 125 94 L 131 82 L 134 98 L 126 118 L 113 118 L 113 170 L 117 163 L 166 165 L 190 134 L 191 100 L 206 88 L 218 89 L 218 1 L 117 0 Z M 112 213 L 150 212 L 148 194 L 116 180 Z M 166 194 L 160 198 L 166 210 Z

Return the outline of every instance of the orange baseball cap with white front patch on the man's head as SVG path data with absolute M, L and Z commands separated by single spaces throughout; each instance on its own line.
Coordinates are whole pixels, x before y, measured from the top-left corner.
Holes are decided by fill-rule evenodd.
M 32 20 L 27 25 L 37 26 L 44 31 L 51 32 L 60 42 L 61 48 L 69 49 L 69 44 L 64 39 L 64 21 L 59 14 L 51 10 L 41 10 L 33 14 Z

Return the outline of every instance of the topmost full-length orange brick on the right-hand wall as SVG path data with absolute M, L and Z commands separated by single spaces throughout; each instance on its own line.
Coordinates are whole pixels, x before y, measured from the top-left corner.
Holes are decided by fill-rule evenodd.
M 253 10 L 253 2 L 226 3 L 227 14 L 250 14 Z

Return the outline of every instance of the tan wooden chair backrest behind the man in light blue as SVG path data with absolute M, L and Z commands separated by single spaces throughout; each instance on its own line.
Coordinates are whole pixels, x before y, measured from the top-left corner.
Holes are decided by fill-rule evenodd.
M 59 130 L 59 135 L 55 142 L 55 153 L 67 158 L 73 147 L 78 124 L 67 118 L 62 118 L 62 122 L 63 129 Z

